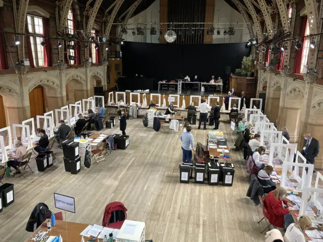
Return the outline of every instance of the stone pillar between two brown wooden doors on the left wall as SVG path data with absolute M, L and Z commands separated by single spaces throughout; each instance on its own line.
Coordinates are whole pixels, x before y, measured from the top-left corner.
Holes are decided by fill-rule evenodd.
M 21 100 L 21 112 L 19 112 L 19 121 L 22 122 L 30 118 L 30 103 L 29 103 L 29 89 L 27 71 L 30 67 L 22 66 L 16 68 L 16 74 L 18 75 L 19 88 L 20 88 L 20 100 Z

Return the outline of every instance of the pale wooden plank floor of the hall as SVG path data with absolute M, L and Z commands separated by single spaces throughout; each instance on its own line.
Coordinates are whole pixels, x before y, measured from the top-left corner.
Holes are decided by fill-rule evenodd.
M 105 162 L 72 175 L 65 172 L 62 150 L 57 150 L 55 165 L 45 172 L 36 171 L 34 162 L 35 173 L 9 178 L 6 182 L 14 184 L 15 202 L 0 213 L 0 241 L 24 241 L 31 234 L 25 227 L 37 203 L 58 212 L 53 193 L 75 197 L 76 213 L 67 213 L 67 220 L 88 224 L 101 224 L 105 205 L 120 201 L 128 209 L 128 219 L 146 223 L 146 239 L 154 242 L 264 241 L 260 231 L 266 221 L 257 223 L 261 208 L 246 197 L 245 162 L 234 151 L 235 135 L 225 122 L 220 130 L 229 140 L 236 167 L 233 187 L 180 184 L 180 133 L 157 133 L 144 128 L 141 118 L 130 119 L 126 131 L 130 146 L 114 151 Z M 194 144 L 205 145 L 208 131 L 193 128 Z M 121 133 L 119 124 L 103 133 Z

